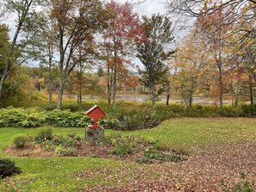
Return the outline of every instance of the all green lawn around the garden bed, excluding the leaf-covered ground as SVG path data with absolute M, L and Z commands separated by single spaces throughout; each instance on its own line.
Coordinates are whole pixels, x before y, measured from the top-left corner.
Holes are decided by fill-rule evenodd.
M 34 134 L 36 131 L 36 128 L 0 128 L 1 158 L 15 160 L 16 164 L 23 170 L 22 175 L 11 177 L 8 181 L 0 183 L 0 191 L 16 191 L 17 189 L 20 189 L 19 191 L 76 191 L 78 188 L 102 181 L 100 175 L 82 180 L 71 177 L 72 173 L 80 170 L 98 169 L 106 166 L 117 169 L 123 164 L 134 167 L 149 166 L 100 158 L 15 158 L 3 153 L 3 148 L 11 144 L 12 139 L 17 134 Z M 82 136 L 84 135 L 84 128 L 54 127 L 53 133 L 76 133 Z M 110 133 L 134 134 L 147 139 L 159 139 L 167 145 L 182 147 L 193 152 L 197 146 L 204 147 L 225 142 L 256 139 L 256 119 L 172 119 L 151 130 L 133 132 L 106 130 L 106 134 Z

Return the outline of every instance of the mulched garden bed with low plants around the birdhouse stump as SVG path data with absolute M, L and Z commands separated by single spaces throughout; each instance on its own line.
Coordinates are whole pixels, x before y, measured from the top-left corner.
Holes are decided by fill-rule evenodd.
M 30 135 L 27 141 L 26 136 L 18 136 L 14 140 L 15 145 L 7 146 L 4 152 L 27 158 L 56 156 L 110 158 L 139 164 L 178 163 L 188 158 L 188 154 L 174 152 L 172 148 L 162 146 L 159 141 L 147 141 L 134 135 L 122 137 L 119 134 L 112 134 L 91 143 L 75 134 L 51 135 L 48 129 L 42 129 L 40 134 L 41 136 L 36 136 L 34 139 Z

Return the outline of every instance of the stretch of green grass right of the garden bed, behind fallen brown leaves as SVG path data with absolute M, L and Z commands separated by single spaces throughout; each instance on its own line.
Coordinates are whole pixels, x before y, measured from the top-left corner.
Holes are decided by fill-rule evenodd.
M 150 130 L 123 132 L 159 139 L 171 146 L 194 148 L 256 139 L 256 119 L 177 118 Z

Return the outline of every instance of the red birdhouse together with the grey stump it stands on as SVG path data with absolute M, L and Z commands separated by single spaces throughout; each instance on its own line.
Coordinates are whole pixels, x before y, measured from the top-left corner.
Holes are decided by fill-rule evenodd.
M 89 127 L 85 127 L 85 138 L 89 141 L 95 141 L 101 139 L 104 136 L 104 128 L 97 125 L 97 121 L 106 116 L 101 108 L 97 105 L 94 105 L 88 111 L 86 111 L 86 115 L 91 117 L 92 125 Z

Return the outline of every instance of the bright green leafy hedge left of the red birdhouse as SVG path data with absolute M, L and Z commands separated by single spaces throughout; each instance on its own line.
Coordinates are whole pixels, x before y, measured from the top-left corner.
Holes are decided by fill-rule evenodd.
M 0 127 L 85 127 L 90 123 L 91 118 L 84 113 L 72 113 L 69 110 L 3 108 L 0 111 Z

